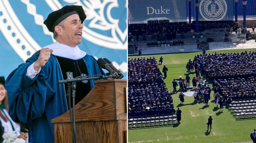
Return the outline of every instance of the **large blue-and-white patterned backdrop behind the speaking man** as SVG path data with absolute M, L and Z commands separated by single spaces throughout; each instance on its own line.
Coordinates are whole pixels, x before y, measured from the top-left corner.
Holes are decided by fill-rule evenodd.
M 0 0 L 0 76 L 55 42 L 43 22 L 65 5 L 82 5 L 87 15 L 78 47 L 113 61 L 127 77 L 126 0 Z

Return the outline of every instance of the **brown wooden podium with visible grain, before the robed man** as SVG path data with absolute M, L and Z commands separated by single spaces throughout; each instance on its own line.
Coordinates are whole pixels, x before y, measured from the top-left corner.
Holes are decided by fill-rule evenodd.
M 126 80 L 95 81 L 95 87 L 75 105 L 77 143 L 126 143 L 126 87 Z M 51 123 L 54 143 L 72 143 L 69 111 Z

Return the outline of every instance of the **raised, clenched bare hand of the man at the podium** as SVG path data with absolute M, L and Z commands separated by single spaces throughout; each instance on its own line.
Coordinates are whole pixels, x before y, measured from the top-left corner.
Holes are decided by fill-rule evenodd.
M 43 67 L 45 63 L 49 60 L 50 58 L 50 53 L 52 53 L 53 50 L 49 48 L 43 48 L 40 51 L 39 57 L 34 63 L 34 69 L 35 71 L 39 71 L 40 67 Z

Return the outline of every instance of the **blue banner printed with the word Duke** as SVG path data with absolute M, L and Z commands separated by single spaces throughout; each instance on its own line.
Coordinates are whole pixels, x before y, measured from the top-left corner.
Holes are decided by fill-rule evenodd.
M 130 24 L 145 23 L 149 18 L 186 21 L 186 0 L 129 0 Z

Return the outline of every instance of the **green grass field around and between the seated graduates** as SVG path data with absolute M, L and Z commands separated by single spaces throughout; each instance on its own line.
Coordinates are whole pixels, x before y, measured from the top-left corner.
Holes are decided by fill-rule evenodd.
M 255 51 L 256 49 L 239 49 L 239 50 L 222 50 L 207 51 L 207 53 L 234 53 L 243 51 Z M 194 56 L 202 52 L 191 52 L 181 54 L 162 54 L 148 56 L 129 56 L 129 58 L 152 57 L 155 56 L 157 61 L 163 56 L 163 64 L 159 66 L 160 71 L 163 65 L 168 68 L 167 78 L 164 82 L 169 91 L 172 91 L 172 80 L 185 77 L 186 64 L 189 59 L 193 60 Z M 190 74 L 191 81 L 194 74 Z M 173 94 L 172 98 L 174 106 L 178 106 L 180 101 L 178 94 Z M 213 100 L 213 91 L 211 92 L 211 100 Z M 128 130 L 129 143 L 238 143 L 251 141 L 250 132 L 256 129 L 256 120 L 235 121 L 235 118 L 228 112 L 228 109 L 215 108 L 214 103 L 208 103 L 209 107 L 203 108 L 204 103 L 194 104 L 193 97 L 185 97 L 184 105 L 180 107 L 182 110 L 181 124 L 171 127 L 158 127 L 150 129 Z M 176 108 L 177 109 L 177 108 Z M 207 133 L 207 119 L 211 115 L 213 125 L 211 132 Z

